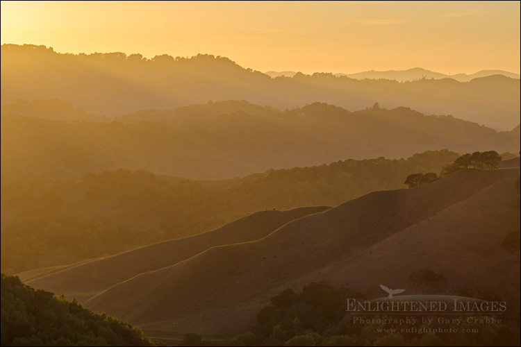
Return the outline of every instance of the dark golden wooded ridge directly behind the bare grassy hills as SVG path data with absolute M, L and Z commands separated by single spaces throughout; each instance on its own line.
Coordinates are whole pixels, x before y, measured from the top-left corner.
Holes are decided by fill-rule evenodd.
M 2 147 L 3 148 L 3 147 Z M 72 264 L 165 239 L 195 235 L 262 210 L 336 206 L 406 176 L 440 172 L 458 155 L 345 160 L 196 181 L 118 170 L 78 183 L 13 183 L 1 190 L 1 266 L 7 273 Z

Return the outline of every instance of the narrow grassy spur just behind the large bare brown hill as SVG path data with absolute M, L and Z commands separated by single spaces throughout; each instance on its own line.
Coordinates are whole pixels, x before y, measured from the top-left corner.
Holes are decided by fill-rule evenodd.
M 140 273 L 174 265 L 214 246 L 261 239 L 289 221 L 327 209 L 313 207 L 258 212 L 203 234 L 151 244 L 113 257 L 72 264 L 65 269 L 30 278 L 26 284 L 83 302 Z

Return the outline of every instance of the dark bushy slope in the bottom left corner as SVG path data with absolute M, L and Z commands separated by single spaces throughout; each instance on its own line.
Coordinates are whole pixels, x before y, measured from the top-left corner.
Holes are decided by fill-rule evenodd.
M 2 346 L 150 346 L 141 331 L 1 274 Z

